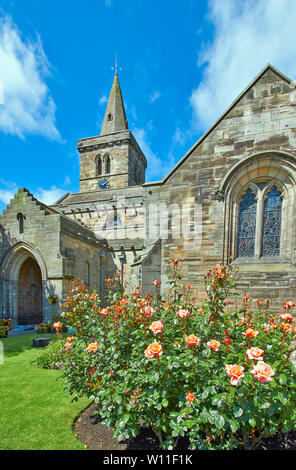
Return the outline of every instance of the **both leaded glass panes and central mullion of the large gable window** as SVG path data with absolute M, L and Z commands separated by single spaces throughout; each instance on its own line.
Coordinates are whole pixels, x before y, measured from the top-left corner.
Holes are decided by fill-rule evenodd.
M 282 197 L 275 184 L 252 183 L 242 195 L 238 257 L 280 256 Z

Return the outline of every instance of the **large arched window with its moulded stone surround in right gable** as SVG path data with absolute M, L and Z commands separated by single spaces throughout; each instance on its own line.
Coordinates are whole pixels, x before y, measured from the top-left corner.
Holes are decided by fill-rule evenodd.
M 224 203 L 225 262 L 295 262 L 295 182 L 296 159 L 285 152 L 253 155 L 230 170 L 213 208 Z

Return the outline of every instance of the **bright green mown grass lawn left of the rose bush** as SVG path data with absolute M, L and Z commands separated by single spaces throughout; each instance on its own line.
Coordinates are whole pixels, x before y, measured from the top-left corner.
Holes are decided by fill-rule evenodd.
M 0 339 L 4 347 L 4 364 L 0 363 L 0 450 L 84 449 L 72 424 L 89 401 L 83 398 L 71 403 L 59 378 L 61 371 L 31 364 L 43 350 L 32 347 L 36 337 Z

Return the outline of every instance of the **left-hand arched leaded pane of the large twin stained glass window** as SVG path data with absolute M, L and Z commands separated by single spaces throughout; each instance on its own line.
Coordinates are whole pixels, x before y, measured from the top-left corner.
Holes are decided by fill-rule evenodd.
M 250 188 L 242 196 L 239 206 L 238 256 L 254 256 L 257 201 Z

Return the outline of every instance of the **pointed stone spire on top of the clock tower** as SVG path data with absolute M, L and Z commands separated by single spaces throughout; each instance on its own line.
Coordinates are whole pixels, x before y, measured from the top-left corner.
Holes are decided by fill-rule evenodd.
M 115 70 L 114 80 L 100 135 L 111 134 L 112 132 L 120 132 L 126 129 L 128 129 L 127 119 L 125 115 L 117 70 Z

